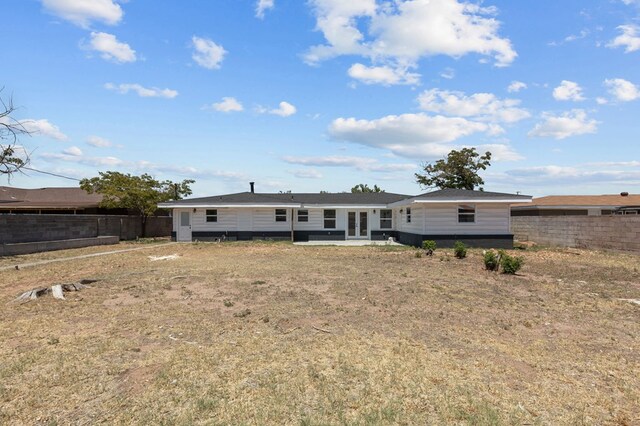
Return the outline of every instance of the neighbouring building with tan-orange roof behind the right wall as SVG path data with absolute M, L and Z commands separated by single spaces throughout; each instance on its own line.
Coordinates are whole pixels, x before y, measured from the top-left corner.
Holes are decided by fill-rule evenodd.
M 602 216 L 638 214 L 640 195 L 549 195 L 511 206 L 512 216 Z

